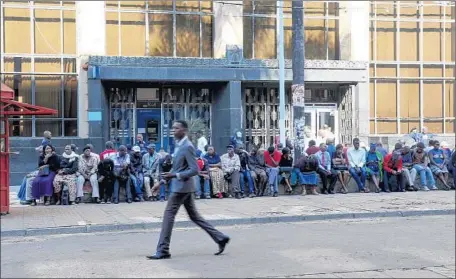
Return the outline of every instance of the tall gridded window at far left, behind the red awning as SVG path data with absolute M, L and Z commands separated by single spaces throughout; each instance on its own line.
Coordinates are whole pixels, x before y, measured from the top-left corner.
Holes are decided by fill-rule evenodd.
M 10 118 L 13 137 L 77 136 L 76 10 L 74 1 L 3 1 L 1 81 L 15 100 L 57 115 Z M 33 36 L 32 36 L 33 34 Z

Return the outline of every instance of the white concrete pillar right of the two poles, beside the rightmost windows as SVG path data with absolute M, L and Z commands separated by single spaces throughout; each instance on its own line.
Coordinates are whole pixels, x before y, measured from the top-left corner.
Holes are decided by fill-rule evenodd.
M 365 82 L 359 82 L 354 94 L 354 133 L 361 140 L 369 136 L 369 2 L 341 1 L 339 20 L 339 57 L 341 60 L 366 62 Z

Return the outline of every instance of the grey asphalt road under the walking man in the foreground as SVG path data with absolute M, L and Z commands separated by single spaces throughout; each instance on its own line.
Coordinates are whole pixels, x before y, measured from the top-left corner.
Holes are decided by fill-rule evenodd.
M 225 227 L 173 233 L 172 259 L 148 261 L 158 231 L 3 239 L 1 277 L 453 277 L 455 216 Z

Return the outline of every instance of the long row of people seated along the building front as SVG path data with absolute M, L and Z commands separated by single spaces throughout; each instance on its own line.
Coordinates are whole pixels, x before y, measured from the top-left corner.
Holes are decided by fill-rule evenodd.
M 436 140 L 428 146 L 398 142 L 391 152 L 380 143 L 366 147 L 357 138 L 345 146 L 331 139 L 316 146 L 311 140 L 296 161 L 288 145 L 247 151 L 242 142 L 235 142 L 222 155 L 213 146 L 197 146 L 196 199 L 277 197 L 280 184 L 286 193 L 293 193 L 298 185 L 302 195 L 318 195 L 319 181 L 322 194 L 346 194 L 350 179 L 363 193 L 437 190 L 437 180 L 443 190 L 456 185 L 456 152 L 442 148 Z M 172 187 L 162 176 L 172 170 L 173 156 L 163 149 L 157 152 L 155 144 L 147 144 L 140 134 L 132 147 L 115 149 L 108 141 L 100 154 L 88 144 L 78 155 L 75 145 L 67 145 L 59 155 L 46 132 L 38 151 L 38 169 L 26 175 L 18 194 L 27 204 L 37 205 L 39 200 L 44 205 L 78 204 L 87 192 L 93 203 L 117 204 L 121 188 L 125 188 L 127 203 L 165 201 Z M 449 181 L 450 173 L 453 181 Z M 419 186 L 415 185 L 417 176 Z

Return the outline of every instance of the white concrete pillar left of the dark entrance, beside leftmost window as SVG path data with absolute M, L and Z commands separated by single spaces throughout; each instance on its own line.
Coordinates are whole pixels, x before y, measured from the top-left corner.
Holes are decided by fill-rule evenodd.
M 76 1 L 76 62 L 78 72 L 79 137 L 89 136 L 87 72 L 82 66 L 89 55 L 106 54 L 106 20 L 104 1 Z

